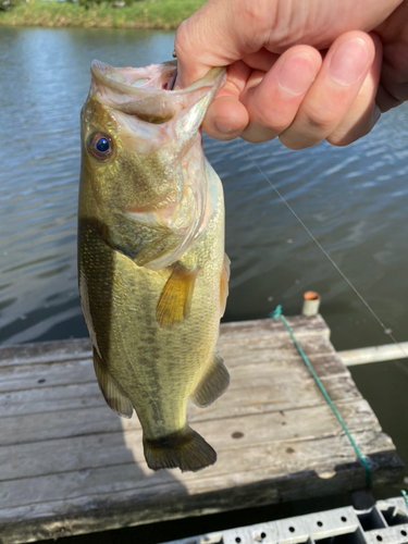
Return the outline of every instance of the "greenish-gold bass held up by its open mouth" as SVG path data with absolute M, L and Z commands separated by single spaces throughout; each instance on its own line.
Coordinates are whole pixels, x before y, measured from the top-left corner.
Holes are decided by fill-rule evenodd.
M 228 294 L 222 184 L 201 123 L 225 69 L 169 90 L 176 61 L 94 61 L 81 113 L 78 287 L 102 395 L 135 410 L 152 470 L 197 471 L 217 453 L 186 421 L 228 386 L 217 351 Z

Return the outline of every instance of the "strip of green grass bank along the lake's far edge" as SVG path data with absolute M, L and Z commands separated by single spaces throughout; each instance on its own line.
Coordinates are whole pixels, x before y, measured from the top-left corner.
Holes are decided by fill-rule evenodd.
M 131 5 L 30 0 L 0 11 L 0 26 L 174 29 L 206 0 L 138 0 Z

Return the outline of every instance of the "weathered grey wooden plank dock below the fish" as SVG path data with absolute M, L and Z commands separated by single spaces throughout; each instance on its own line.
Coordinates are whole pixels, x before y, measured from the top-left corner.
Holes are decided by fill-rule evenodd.
M 395 446 L 323 319 L 287 321 L 367 457 L 373 485 L 396 481 Z M 223 324 L 219 350 L 228 391 L 209 408 L 188 409 L 219 459 L 181 473 L 147 468 L 138 420 L 104 404 L 88 339 L 1 348 L 1 544 L 364 487 L 363 466 L 281 321 Z

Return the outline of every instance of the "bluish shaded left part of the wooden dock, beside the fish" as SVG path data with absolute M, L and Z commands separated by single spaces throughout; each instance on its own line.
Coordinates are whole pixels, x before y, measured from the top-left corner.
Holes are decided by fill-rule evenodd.
M 175 472 L 147 468 L 136 416 L 106 405 L 90 356 L 89 341 L 1 350 L 3 544 L 163 519 L 163 497 L 184 494 Z

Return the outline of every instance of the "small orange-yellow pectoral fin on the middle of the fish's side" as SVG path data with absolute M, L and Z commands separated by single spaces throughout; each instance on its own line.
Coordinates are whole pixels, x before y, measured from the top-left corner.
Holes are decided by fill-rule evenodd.
M 156 317 L 160 325 L 173 326 L 188 318 L 194 284 L 199 270 L 197 267 L 189 271 L 180 262 L 173 264 L 173 271 L 165 282 L 156 309 Z

